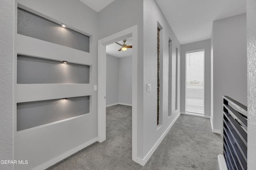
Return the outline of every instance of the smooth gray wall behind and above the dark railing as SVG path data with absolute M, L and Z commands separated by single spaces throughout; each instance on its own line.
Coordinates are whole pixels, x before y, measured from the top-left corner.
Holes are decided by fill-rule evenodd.
M 213 129 L 222 131 L 222 96 L 247 106 L 246 14 L 213 22 Z

